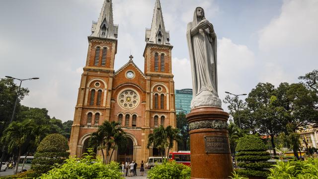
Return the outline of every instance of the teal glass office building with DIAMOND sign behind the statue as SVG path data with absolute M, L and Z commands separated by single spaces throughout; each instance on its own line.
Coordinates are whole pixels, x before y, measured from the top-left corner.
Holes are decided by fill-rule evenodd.
M 175 110 L 178 114 L 179 112 L 189 113 L 190 104 L 192 100 L 192 89 L 176 89 L 174 91 L 175 95 Z

